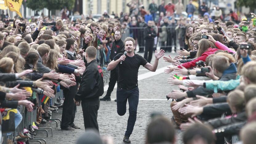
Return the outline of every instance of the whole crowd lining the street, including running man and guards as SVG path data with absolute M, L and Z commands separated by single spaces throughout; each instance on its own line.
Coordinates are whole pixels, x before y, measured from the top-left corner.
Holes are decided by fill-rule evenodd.
M 74 118 L 76 106 L 81 103 L 88 131 L 77 143 L 95 139 L 102 143 L 97 123 L 99 100 L 110 101 L 118 82 L 116 101 L 120 116 L 126 113 L 129 100 L 130 115 L 123 142 L 130 143 L 138 107 L 138 68 L 142 65 L 155 71 L 158 59 L 167 51 L 177 53 L 173 58 L 163 57 L 172 65 L 165 70 L 166 74 L 171 73 L 168 83 L 179 87 L 166 95 L 167 100 L 172 99 L 173 117 L 171 121 L 163 116 L 153 118 L 147 128 L 146 143 L 175 143 L 175 128 L 185 131 L 185 144 L 230 143 L 233 135 L 239 135 L 244 144 L 254 143 L 256 15 L 250 13 L 250 17 L 239 19 L 231 10 L 230 19 L 225 21 L 218 6 L 210 13 L 203 2 L 198 8 L 199 18 L 195 19 L 192 1 L 186 9 L 181 1 L 162 1 L 157 6 L 153 0 L 148 10 L 138 1 L 127 6 L 129 14 L 113 14 L 112 18 L 104 12 L 97 22 L 91 15 L 71 21 L 66 11 L 62 18 L 2 17 L 2 118 L 13 112 L 10 118 L 17 128 L 24 107 L 37 114 L 36 121 L 24 128 L 15 142 L 33 139 L 34 129 L 45 124 L 58 107 L 63 107 L 61 129 L 80 129 Z M 182 11 L 187 12 L 187 17 Z M 157 45 L 161 50 L 155 51 L 156 59 L 151 65 Z M 136 47 L 138 53 L 144 53 L 143 57 L 134 54 Z M 102 70 L 111 70 L 110 82 L 105 97 L 99 99 L 104 91 Z M 58 97 L 54 102 L 52 98 L 60 89 L 64 98 Z M 2 132 L 12 134 L 6 127 L 2 127 Z M 8 143 L 13 140 L 8 139 Z

